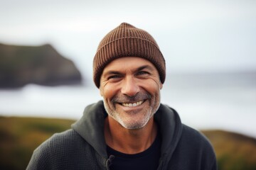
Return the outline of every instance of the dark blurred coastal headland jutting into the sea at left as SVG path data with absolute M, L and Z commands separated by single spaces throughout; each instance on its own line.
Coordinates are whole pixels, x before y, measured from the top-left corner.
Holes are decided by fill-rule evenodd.
M 0 88 L 26 84 L 58 86 L 80 84 L 82 76 L 75 64 L 51 45 L 18 46 L 0 43 Z

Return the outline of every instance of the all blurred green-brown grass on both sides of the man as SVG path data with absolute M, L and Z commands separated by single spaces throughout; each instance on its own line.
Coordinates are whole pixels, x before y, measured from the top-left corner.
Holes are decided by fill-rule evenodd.
M 26 169 L 33 150 L 75 120 L 0 116 L 0 169 Z M 255 170 L 256 140 L 222 130 L 202 130 L 213 144 L 218 170 Z

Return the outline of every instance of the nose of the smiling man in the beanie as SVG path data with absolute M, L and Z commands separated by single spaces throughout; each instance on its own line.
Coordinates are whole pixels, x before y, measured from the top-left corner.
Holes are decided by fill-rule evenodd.
M 126 79 L 124 79 L 121 93 L 130 97 L 135 96 L 137 93 L 139 93 L 139 86 L 136 80 L 134 80 L 134 78 L 132 77 L 127 77 Z

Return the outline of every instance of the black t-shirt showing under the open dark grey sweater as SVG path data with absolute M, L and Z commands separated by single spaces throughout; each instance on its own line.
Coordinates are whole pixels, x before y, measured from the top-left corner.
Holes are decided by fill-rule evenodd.
M 114 155 L 114 159 L 112 159 L 112 164 L 110 165 L 111 170 L 157 169 L 161 154 L 161 139 L 160 136 L 157 135 L 153 144 L 144 152 L 138 154 L 124 154 L 108 146 L 107 154 L 109 156 Z

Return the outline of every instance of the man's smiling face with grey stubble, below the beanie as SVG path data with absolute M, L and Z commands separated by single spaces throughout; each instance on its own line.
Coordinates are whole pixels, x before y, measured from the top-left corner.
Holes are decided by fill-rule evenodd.
M 154 64 L 140 57 L 121 57 L 107 64 L 100 94 L 111 118 L 124 128 L 144 127 L 160 105 L 162 88 Z

